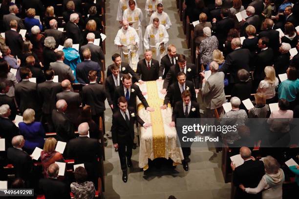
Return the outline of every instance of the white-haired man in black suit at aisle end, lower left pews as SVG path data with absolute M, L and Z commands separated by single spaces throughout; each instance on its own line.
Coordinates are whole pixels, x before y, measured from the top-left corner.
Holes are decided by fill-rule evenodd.
M 79 138 L 69 140 L 67 154 L 69 158 L 75 159 L 75 164 L 84 163 L 88 173 L 88 180 L 92 181 L 95 187 L 97 187 L 99 176 L 98 158 L 102 159 L 103 152 L 97 139 L 88 138 L 88 130 L 87 122 L 79 125 Z

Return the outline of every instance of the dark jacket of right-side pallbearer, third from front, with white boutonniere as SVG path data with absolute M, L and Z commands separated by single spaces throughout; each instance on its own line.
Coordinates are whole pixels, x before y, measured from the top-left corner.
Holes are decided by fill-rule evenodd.
M 186 80 L 192 81 L 194 83 L 195 89 L 198 89 L 199 87 L 199 76 L 196 72 L 196 67 L 193 63 L 187 63 L 186 65 Z M 168 71 L 166 78 L 163 83 L 163 88 L 168 88 L 169 85 L 176 82 L 176 76 L 180 72 L 180 67 L 178 63 L 171 66 L 170 70 Z

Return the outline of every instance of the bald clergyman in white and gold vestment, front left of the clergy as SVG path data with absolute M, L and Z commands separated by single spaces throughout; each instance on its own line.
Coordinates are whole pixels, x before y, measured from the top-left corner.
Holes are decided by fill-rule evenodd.
M 136 30 L 129 26 L 128 20 L 123 20 L 122 24 L 123 27 L 118 30 L 114 44 L 120 49 L 122 60 L 127 62 L 133 70 L 136 70 L 139 60 L 139 37 Z

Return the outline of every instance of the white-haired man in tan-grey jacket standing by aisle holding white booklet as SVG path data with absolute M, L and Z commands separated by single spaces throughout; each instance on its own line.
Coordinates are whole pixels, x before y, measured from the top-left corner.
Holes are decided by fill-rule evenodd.
M 224 94 L 224 73 L 218 72 L 219 65 L 216 61 L 210 64 L 212 75 L 206 80 L 202 80 L 201 92 L 204 104 L 206 104 L 206 117 L 214 118 L 214 110 L 217 109 L 218 114 L 222 112 L 222 104 L 225 103 Z M 204 73 L 200 73 L 204 77 Z

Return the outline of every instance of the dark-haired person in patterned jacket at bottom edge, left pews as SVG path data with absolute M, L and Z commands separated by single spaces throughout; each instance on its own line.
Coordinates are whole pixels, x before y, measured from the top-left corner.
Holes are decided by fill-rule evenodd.
M 79 166 L 75 169 L 76 182 L 70 185 L 74 199 L 93 199 L 95 196 L 94 184 L 91 181 L 86 181 L 87 172 L 84 167 Z

